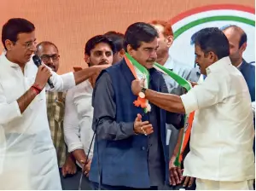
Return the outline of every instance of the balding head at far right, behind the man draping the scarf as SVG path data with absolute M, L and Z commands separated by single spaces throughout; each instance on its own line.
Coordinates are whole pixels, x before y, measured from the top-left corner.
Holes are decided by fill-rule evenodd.
M 230 43 L 230 60 L 237 67 L 241 64 L 242 54 L 247 48 L 247 34 L 239 26 L 226 26 L 223 32 Z

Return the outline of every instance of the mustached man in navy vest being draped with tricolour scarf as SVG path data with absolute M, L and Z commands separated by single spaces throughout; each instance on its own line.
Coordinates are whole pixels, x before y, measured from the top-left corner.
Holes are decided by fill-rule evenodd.
M 169 181 L 166 111 L 131 92 L 135 78 L 146 78 L 147 87 L 168 92 L 161 73 L 153 68 L 158 38 L 147 23 L 129 26 L 125 59 L 96 81 L 92 97 L 96 142 L 90 165 L 95 189 L 157 189 Z M 172 125 L 180 124 L 179 114 L 168 114 Z

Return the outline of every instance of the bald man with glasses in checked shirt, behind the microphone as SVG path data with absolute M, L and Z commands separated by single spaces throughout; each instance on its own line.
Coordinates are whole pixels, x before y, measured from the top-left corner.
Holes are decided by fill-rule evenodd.
M 47 67 L 51 68 L 54 72 L 58 72 L 60 66 L 60 55 L 59 50 L 54 43 L 48 41 L 38 43 L 36 55 L 41 58 Z M 65 95 L 66 94 L 64 92 L 46 91 L 49 130 L 56 149 L 58 165 L 61 173 L 61 185 L 63 189 L 66 189 L 64 182 L 67 180 L 63 177 L 73 175 L 77 171 L 72 154 L 67 153 L 67 146 L 64 142 L 63 119 Z

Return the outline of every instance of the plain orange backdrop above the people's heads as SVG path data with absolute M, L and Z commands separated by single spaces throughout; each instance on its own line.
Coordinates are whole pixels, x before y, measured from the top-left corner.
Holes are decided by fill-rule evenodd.
M 254 0 L 214 3 L 254 8 Z M 171 20 L 177 14 L 209 4 L 212 0 L 1 0 L 0 29 L 9 18 L 31 20 L 37 27 L 38 42 L 49 40 L 60 49 L 59 73 L 63 73 L 86 66 L 84 45 L 92 36 L 108 31 L 125 32 L 127 26 L 137 21 Z

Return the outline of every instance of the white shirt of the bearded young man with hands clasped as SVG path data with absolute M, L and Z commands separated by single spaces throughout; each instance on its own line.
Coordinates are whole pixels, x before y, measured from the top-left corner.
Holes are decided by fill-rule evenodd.
M 64 136 L 68 152 L 84 149 L 88 154 L 93 137 L 91 106 L 93 88 L 89 80 L 67 91 L 65 101 Z M 89 159 L 92 158 L 94 143 L 90 148 Z M 79 164 L 79 163 L 78 163 Z

